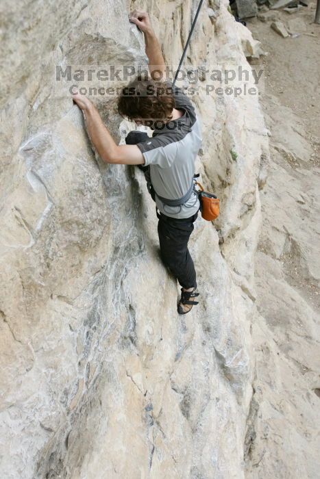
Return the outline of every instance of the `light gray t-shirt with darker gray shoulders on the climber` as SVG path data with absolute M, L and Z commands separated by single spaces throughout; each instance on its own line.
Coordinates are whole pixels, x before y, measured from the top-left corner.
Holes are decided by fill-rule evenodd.
M 167 81 L 167 86 L 172 83 Z M 184 114 L 171 120 L 161 129 L 154 129 L 152 138 L 138 143 L 145 166 L 150 165 L 150 177 L 154 190 L 163 198 L 182 198 L 188 192 L 195 174 L 195 159 L 201 146 L 201 127 L 195 108 L 180 88 L 173 89 L 175 105 Z M 193 192 L 181 206 L 164 205 L 156 195 L 156 205 L 171 218 L 189 218 L 197 213 L 200 203 Z

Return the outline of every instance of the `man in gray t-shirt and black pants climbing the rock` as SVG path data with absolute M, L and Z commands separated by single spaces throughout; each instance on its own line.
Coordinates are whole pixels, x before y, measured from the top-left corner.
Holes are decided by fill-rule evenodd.
M 88 134 L 103 161 L 138 165 L 145 171 L 149 192 L 156 201 L 160 254 L 182 287 L 177 311 L 185 314 L 198 304 L 195 298 L 199 296 L 188 239 L 200 206 L 193 175 L 201 129 L 188 97 L 166 77 L 164 57 L 148 14 L 135 10 L 130 21 L 145 36 L 151 79 L 135 79 L 123 89 L 119 114 L 137 125 L 151 127 L 152 137 L 132 131 L 127 144 L 119 146 L 94 105 L 79 94 L 73 95 L 73 100 L 84 112 Z

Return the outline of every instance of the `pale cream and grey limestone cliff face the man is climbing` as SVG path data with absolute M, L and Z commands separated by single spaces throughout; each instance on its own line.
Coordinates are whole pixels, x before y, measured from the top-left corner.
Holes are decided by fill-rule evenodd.
M 197 170 L 221 216 L 195 223 L 201 302 L 179 316 L 142 172 L 95 157 L 56 81 L 56 65 L 147 65 L 137 7 L 177 65 L 197 2 L 1 5 L 1 478 L 244 476 L 267 130 L 258 96 L 201 83 Z M 186 62 L 248 69 L 243 31 L 208 1 Z M 123 141 L 114 99 L 93 101 Z

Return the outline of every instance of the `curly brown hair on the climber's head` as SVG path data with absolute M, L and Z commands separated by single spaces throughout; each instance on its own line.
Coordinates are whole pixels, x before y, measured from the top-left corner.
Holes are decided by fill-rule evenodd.
M 169 121 L 173 108 L 172 87 L 152 79 L 134 79 L 123 88 L 118 100 L 118 112 L 128 120 Z

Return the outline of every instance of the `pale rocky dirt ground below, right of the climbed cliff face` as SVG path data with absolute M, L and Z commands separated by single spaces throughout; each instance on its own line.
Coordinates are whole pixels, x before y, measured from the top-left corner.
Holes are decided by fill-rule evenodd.
M 320 25 L 315 3 L 247 21 L 267 51 L 260 101 L 271 165 L 260 192 L 256 253 L 256 379 L 248 478 L 320 477 L 319 151 Z M 297 25 L 282 38 L 270 24 Z M 289 22 L 289 24 L 288 24 Z

